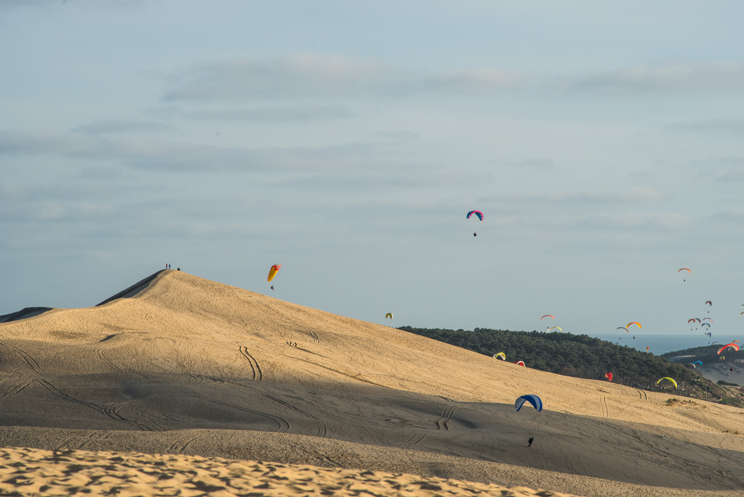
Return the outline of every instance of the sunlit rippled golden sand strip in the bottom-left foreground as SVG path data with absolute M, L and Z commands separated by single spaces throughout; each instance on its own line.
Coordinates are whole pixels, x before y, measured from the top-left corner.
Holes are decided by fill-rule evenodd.
M 0 449 L 4 496 L 568 496 L 406 473 L 138 452 Z

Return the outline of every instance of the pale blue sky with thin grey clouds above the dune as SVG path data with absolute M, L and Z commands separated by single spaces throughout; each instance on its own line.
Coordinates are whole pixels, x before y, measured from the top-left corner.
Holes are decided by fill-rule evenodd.
M 743 14 L 2 2 L 0 314 L 170 262 L 394 326 L 737 332 Z

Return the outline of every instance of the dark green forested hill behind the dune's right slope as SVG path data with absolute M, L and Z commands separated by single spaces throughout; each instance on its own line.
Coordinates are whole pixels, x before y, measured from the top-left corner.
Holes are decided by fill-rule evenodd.
M 507 361 L 525 361 L 527 367 L 578 378 L 604 379 L 612 373 L 613 382 L 649 384 L 664 376 L 679 382 L 698 378 L 682 364 L 650 352 L 640 352 L 629 346 L 589 335 L 560 332 L 511 332 L 501 329 L 426 329 L 399 328 L 446 344 L 493 356 L 504 352 Z M 715 351 L 714 351 L 715 352 Z

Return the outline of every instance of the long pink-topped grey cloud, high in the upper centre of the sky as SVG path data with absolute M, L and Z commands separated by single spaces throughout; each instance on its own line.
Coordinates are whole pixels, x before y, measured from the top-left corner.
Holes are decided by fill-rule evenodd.
M 482 95 L 525 87 L 530 73 L 484 68 L 418 75 L 376 59 L 292 54 L 200 63 L 170 79 L 173 86 L 165 101 L 218 101 L 422 92 Z

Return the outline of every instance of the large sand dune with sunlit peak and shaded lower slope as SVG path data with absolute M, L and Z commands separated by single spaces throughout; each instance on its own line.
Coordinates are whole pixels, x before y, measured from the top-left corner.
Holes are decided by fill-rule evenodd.
M 542 413 L 514 411 L 525 393 L 542 398 Z M 272 458 L 289 462 L 315 451 L 327 464 L 399 470 L 381 452 L 356 466 L 324 453 L 338 449 L 333 439 L 466 462 L 429 472 L 446 478 L 501 482 L 483 466 L 498 465 L 524 478 L 508 486 L 586 496 L 626 495 L 628 485 L 637 495 L 744 488 L 744 410 L 673 397 L 519 367 L 173 270 L 131 298 L 0 324 L 0 425 L 26 427 L 1 430 L 6 445 L 222 455 L 183 435 L 211 431 L 248 447 L 225 456 L 260 459 L 245 434 L 263 431 L 316 441 L 266 440 Z M 90 437 L 68 436 L 80 430 Z M 132 445 L 118 435 L 127 431 L 161 438 Z M 101 440 L 109 445 L 89 445 Z M 546 475 L 560 476 L 548 486 Z

